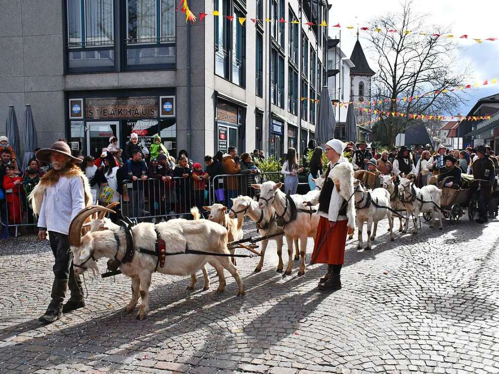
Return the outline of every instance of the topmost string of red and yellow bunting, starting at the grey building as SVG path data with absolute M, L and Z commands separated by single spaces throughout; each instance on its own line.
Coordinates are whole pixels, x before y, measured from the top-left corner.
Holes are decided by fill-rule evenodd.
M 186 14 L 186 22 L 188 21 L 191 21 L 192 23 L 196 22 L 196 19 L 198 17 L 196 17 L 194 15 L 194 13 L 190 10 L 189 8 L 189 5 L 187 3 L 187 0 L 181 0 L 179 5 L 177 6 L 177 9 L 176 10 L 179 10 L 181 9 L 181 11 L 183 13 Z M 221 16 L 222 14 L 220 13 L 219 10 L 212 10 L 210 13 L 205 13 L 205 12 L 197 12 L 197 14 L 199 14 L 199 21 L 202 22 L 203 19 L 205 19 L 207 16 Z M 226 15 L 225 16 L 226 19 L 228 19 L 229 21 L 234 21 L 235 19 L 237 21 L 239 21 L 239 23 L 241 23 L 241 25 L 243 25 L 247 20 L 248 18 L 247 17 L 235 17 L 233 15 Z M 269 17 L 266 17 L 264 19 L 262 18 L 250 18 L 250 20 L 253 22 L 253 24 L 256 23 L 256 21 L 258 22 L 271 22 L 271 23 L 274 23 L 274 22 L 279 22 L 279 23 L 298 23 L 298 24 L 303 24 L 303 25 L 308 25 L 308 26 L 321 26 L 321 27 L 327 27 L 327 23 L 325 20 L 322 20 L 321 23 L 313 23 L 313 22 L 299 22 L 297 21 L 296 19 L 293 19 L 291 21 L 289 21 L 289 19 L 285 19 L 284 17 L 281 17 L 280 19 L 273 19 L 273 18 L 269 18 Z M 340 28 L 343 28 L 343 29 L 347 29 L 347 30 L 353 30 L 355 29 L 354 26 L 352 25 L 348 25 L 348 26 L 341 26 L 340 23 L 336 23 L 335 25 L 332 25 L 330 26 L 331 29 L 340 29 Z M 431 35 L 431 36 L 434 36 L 436 38 L 439 38 L 439 37 L 443 37 L 443 38 L 448 38 L 448 39 L 457 39 L 457 40 L 475 40 L 477 43 L 481 44 L 483 43 L 484 41 L 496 41 L 496 40 L 499 40 L 499 38 L 496 38 L 496 37 L 488 37 L 488 38 L 472 38 L 472 37 L 469 37 L 468 34 L 463 34 L 463 35 L 454 35 L 454 34 L 439 34 L 439 33 L 436 33 L 436 32 L 421 32 L 421 31 L 417 31 L 417 30 L 397 30 L 397 29 L 384 29 L 384 28 L 379 28 L 379 27 L 373 27 L 373 28 L 370 28 L 370 27 L 367 27 L 367 26 L 362 26 L 362 27 L 358 27 L 358 30 L 359 31 L 363 31 L 363 32 L 381 32 L 381 31 L 386 31 L 386 32 L 391 32 L 391 33 L 403 33 L 404 35 L 407 35 L 407 34 L 419 34 L 419 35 Z

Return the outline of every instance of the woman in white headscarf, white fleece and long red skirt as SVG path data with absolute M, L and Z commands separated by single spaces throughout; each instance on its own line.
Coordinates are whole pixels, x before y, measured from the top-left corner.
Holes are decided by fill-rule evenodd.
M 320 219 L 310 260 L 311 264 L 327 264 L 327 274 L 319 282 L 321 290 L 341 288 L 340 271 L 345 256 L 346 236 L 349 231 L 348 203 L 334 187 L 334 182 L 328 178 L 328 175 L 339 164 L 348 162 L 343 157 L 344 148 L 345 144 L 337 139 L 331 139 L 325 147 L 329 167 L 324 174 L 326 181 L 319 195 L 317 214 Z M 353 178 L 351 177 L 352 168 L 347 169 L 349 176 L 345 175 L 345 178 Z

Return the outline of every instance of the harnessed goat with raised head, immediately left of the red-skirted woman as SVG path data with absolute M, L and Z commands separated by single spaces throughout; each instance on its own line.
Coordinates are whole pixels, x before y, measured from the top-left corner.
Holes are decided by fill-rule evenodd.
M 261 185 L 251 185 L 255 189 L 260 190 L 260 198 L 258 199 L 258 207 L 264 209 L 265 207 L 273 206 L 278 216 L 282 217 L 286 224 L 284 225 L 284 234 L 286 235 L 288 262 L 285 274 L 291 274 L 293 267 L 293 241 L 299 239 L 300 241 L 300 268 L 298 275 L 305 274 L 305 257 L 307 250 L 308 237 L 315 238 L 317 232 L 317 225 L 319 223 L 319 216 L 317 213 L 309 214 L 306 212 L 298 211 L 296 219 L 290 221 L 291 207 L 287 201 L 286 195 L 279 188 L 282 183 L 274 183 L 272 181 L 265 182 Z M 297 195 L 292 195 L 290 198 L 293 200 L 296 207 L 303 201 Z

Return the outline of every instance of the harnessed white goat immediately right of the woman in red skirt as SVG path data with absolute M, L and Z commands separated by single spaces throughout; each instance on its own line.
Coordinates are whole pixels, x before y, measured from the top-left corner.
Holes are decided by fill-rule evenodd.
M 367 247 L 371 250 L 371 240 L 376 237 L 378 221 L 388 218 L 390 240 L 394 240 L 393 221 L 390 210 L 383 206 L 390 206 L 390 193 L 384 188 L 366 189 L 359 180 L 353 182 L 355 190 L 354 199 L 357 208 L 357 225 L 359 227 L 359 244 L 357 248 L 362 248 L 362 228 L 367 222 Z M 374 222 L 374 230 L 371 236 L 371 227 Z

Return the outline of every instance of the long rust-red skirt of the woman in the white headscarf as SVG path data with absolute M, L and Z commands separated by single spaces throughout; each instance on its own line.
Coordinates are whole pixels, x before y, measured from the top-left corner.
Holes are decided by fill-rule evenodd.
M 342 265 L 345 258 L 345 243 L 348 232 L 348 220 L 337 221 L 336 226 L 329 229 L 329 220 L 320 217 L 315 235 L 315 244 L 313 247 L 310 264 L 329 264 Z M 327 237 L 322 240 L 324 235 Z M 322 244 L 318 248 L 319 244 Z

